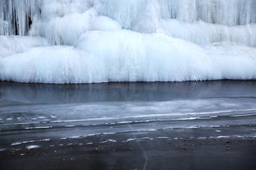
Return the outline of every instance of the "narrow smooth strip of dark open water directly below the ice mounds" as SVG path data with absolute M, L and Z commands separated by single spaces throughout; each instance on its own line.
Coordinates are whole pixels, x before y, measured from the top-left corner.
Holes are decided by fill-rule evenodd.
M 0 81 L 0 99 L 21 103 L 170 101 L 178 98 L 256 97 L 256 81 L 105 84 L 21 84 Z

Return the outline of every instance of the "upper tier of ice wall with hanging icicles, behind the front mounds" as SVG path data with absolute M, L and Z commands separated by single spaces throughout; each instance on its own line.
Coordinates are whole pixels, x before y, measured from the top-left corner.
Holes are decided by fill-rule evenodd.
M 256 45 L 252 24 L 256 23 L 256 0 L 2 0 L 0 3 L 0 35 L 26 35 L 29 30 L 30 35 L 41 35 L 57 45 L 73 45 L 85 31 L 106 27 L 164 33 L 198 44 L 233 41 Z M 105 26 L 99 26 L 102 22 Z

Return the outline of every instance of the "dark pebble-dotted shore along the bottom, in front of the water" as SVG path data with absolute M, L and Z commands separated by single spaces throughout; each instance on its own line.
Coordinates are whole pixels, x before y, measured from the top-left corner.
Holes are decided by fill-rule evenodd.
M 13 145 L 1 150 L 0 169 L 256 169 L 254 137 L 210 137 L 213 131 L 128 132 Z

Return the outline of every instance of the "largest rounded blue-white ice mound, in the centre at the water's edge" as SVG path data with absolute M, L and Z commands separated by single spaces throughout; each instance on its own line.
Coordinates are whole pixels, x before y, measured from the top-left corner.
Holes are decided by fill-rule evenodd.
M 92 56 L 97 81 L 213 79 L 215 66 L 198 45 L 162 34 L 129 30 L 90 32 L 74 46 Z

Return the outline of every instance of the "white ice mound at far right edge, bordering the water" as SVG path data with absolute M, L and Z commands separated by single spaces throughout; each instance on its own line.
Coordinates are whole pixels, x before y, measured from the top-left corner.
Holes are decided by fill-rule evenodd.
M 218 65 L 220 79 L 256 79 L 256 48 L 238 45 L 204 47 Z

